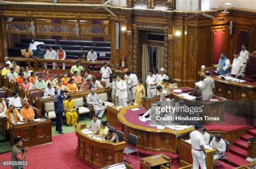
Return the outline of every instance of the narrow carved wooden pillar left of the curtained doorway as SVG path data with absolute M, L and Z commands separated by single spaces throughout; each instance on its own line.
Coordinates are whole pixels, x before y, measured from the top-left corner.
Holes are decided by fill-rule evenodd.
M 132 35 L 133 35 L 133 40 L 132 40 L 132 71 L 134 74 L 137 73 L 137 53 L 138 53 L 138 29 L 137 25 L 133 24 L 132 25 Z

